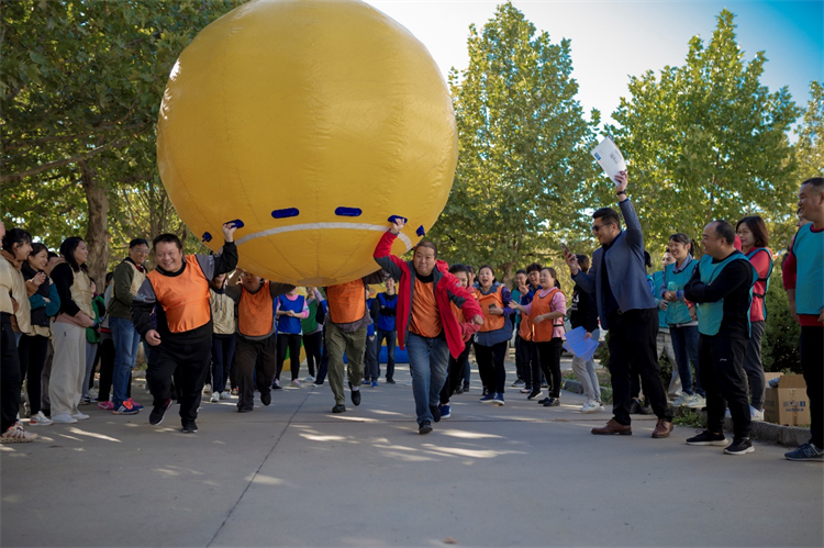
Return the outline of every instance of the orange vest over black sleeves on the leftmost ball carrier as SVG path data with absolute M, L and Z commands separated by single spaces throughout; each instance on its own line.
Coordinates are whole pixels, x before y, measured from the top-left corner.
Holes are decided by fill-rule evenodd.
M 164 276 L 157 270 L 147 275 L 171 333 L 197 329 L 212 318 L 209 280 L 197 256 L 187 255 L 185 259 L 186 265 L 179 276 Z

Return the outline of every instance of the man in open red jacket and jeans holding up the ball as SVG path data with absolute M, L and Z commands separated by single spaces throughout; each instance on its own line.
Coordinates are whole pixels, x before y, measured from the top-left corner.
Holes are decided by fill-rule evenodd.
M 437 404 L 446 380 L 449 354 L 457 358 L 468 340 L 483 325 L 483 314 L 472 293 L 437 260 L 437 248 L 428 241 L 415 247 L 412 260 L 404 261 L 392 251 L 392 243 L 405 221 L 394 217 L 392 227 L 375 248 L 375 260 L 400 282 L 398 289 L 398 345 L 409 351 L 412 393 L 415 398 L 417 433 L 432 432 L 438 422 Z M 470 322 L 459 324 L 452 311 L 454 302 Z

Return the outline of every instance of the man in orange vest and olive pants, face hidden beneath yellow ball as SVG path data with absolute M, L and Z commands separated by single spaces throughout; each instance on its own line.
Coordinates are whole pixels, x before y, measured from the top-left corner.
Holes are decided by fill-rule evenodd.
M 364 378 L 364 350 L 366 331 L 372 323 L 366 309 L 364 291 L 369 283 L 382 283 L 383 272 L 377 271 L 346 283 L 326 288 L 329 322 L 326 323 L 326 348 L 329 349 L 329 383 L 335 394 L 332 413 L 346 411 L 344 394 L 343 355 L 349 361 L 347 373 L 353 405 L 360 405 L 360 381 Z

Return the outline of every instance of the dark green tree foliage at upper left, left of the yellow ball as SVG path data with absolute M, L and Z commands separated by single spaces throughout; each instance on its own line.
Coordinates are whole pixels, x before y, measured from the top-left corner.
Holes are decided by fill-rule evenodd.
M 240 3 L 0 1 L 7 225 L 52 247 L 85 235 L 97 277 L 109 260 L 110 223 L 123 223 L 119 237 L 153 235 L 138 224 L 145 210 L 122 208 L 157 180 L 155 125 L 169 71 L 201 29 Z M 148 195 L 158 205 L 164 194 Z

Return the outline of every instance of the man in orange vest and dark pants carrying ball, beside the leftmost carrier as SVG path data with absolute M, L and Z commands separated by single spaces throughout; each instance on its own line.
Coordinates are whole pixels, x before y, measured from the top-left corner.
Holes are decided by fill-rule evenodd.
M 237 284 L 238 277 L 242 281 Z M 235 364 L 237 366 L 237 412 L 248 413 L 254 407 L 255 380 L 260 392 L 260 403 L 271 403 L 271 381 L 277 369 L 275 346 L 274 302 L 278 295 L 294 289 L 286 283 L 272 283 L 242 269 L 229 279 L 226 297 L 237 304 L 237 336 Z

